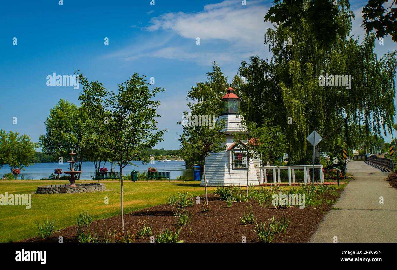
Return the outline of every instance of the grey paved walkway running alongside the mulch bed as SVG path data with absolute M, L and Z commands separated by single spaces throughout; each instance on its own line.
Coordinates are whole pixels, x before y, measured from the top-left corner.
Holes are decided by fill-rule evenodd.
M 397 242 L 397 189 L 385 181 L 382 173 L 363 161 L 347 164 L 354 180 L 318 225 L 310 242 L 339 243 Z M 380 204 L 379 197 L 384 203 Z

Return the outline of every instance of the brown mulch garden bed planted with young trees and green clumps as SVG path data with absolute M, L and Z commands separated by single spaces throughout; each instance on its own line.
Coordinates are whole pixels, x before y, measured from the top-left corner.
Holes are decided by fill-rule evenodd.
M 324 198 L 336 201 L 342 190 L 338 189 L 338 196 L 331 196 L 327 193 L 322 194 Z M 276 243 L 304 243 L 316 231 L 317 225 L 322 221 L 324 215 L 331 209 L 332 205 L 323 203 L 321 206 L 306 206 L 300 209 L 298 206 L 289 208 L 275 208 L 274 206 L 260 206 L 255 200 L 250 202 L 236 202 L 231 208 L 226 207 L 224 200 L 218 196 L 209 194 L 208 204 L 210 211 L 203 212 L 202 204 L 205 196 L 201 196 L 201 204 L 195 204 L 187 209 L 193 213 L 190 225 L 183 226 L 179 233 L 178 240 L 184 243 L 241 243 L 242 237 L 246 237 L 248 242 L 258 241 L 256 233 L 251 231 L 254 224 L 243 225 L 240 218 L 246 212 L 246 206 L 252 205 L 256 222 L 268 222 L 269 218 L 289 218 L 291 219 L 287 231 L 275 234 L 273 242 Z M 132 212 L 124 215 L 125 231 L 136 232 L 141 227 L 141 223 L 146 221 L 151 225 L 153 235 L 157 230 L 165 227 L 175 231 L 177 220 L 173 216 L 177 206 L 162 204 Z M 120 216 L 93 221 L 90 226 L 92 232 L 102 234 L 106 231 L 119 230 Z M 38 238 L 25 239 L 23 242 L 58 242 L 58 237 L 62 236 L 64 243 L 78 242 L 76 226 L 61 229 L 54 233 L 49 239 L 40 240 Z M 136 239 L 136 243 L 148 243 L 149 239 Z

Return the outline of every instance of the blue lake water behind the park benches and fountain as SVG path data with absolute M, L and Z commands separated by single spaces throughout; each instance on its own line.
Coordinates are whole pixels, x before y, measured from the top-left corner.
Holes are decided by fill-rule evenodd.
M 179 175 L 185 176 L 185 179 L 193 179 L 193 170 L 191 167 L 185 167 L 185 161 L 154 161 L 154 164 L 142 164 L 141 161 L 132 161 L 132 163 L 135 166 L 127 165 L 124 167 L 123 175 L 129 174 L 132 170 L 142 173 L 147 171 L 149 167 L 155 167 L 157 171 L 170 171 L 171 179 L 176 179 Z M 101 167 L 102 164 L 103 163 L 101 163 Z M 106 162 L 104 167 L 108 168 L 108 171 L 110 171 L 110 163 Z M 25 179 L 38 180 L 45 177 L 48 178 L 50 177 L 50 174 L 54 173 L 54 170 L 58 168 L 62 169 L 62 171 L 69 171 L 69 163 L 35 163 L 35 165 L 25 167 L 25 171 L 21 170 L 21 173 L 18 175 L 18 179 L 21 179 L 22 175 Z M 83 171 L 80 177 L 81 180 L 92 180 L 91 177 L 95 175 L 94 162 L 83 162 L 81 164 L 81 170 Z M 119 166 L 116 166 L 114 171 L 120 171 Z M 10 167 L 8 167 L 8 165 L 4 165 L 2 169 L 0 169 L 0 178 L 2 178 L 4 173 L 10 173 Z

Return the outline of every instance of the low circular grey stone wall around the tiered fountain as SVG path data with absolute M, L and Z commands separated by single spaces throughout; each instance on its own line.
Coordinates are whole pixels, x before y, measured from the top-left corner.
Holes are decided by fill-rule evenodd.
M 36 194 L 56 194 L 56 193 L 83 193 L 83 192 L 96 192 L 106 190 L 105 184 L 89 183 L 89 184 L 76 184 L 76 186 L 65 185 L 50 185 L 38 186 Z

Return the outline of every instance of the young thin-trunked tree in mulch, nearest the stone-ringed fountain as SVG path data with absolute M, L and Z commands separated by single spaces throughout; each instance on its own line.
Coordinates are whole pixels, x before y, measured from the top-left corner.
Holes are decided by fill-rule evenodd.
M 149 89 L 146 76 L 141 77 L 137 73 L 118 85 L 117 92 L 107 90 L 97 81 L 89 83 L 82 74 L 78 75 L 83 85 L 83 93 L 79 97 L 81 105 L 98 129 L 97 134 L 104 146 L 110 150 L 112 160 L 120 167 L 121 231 L 124 233 L 123 169 L 146 148 L 162 141 L 166 130 L 158 130 L 155 120 L 161 117 L 156 113 L 160 101 L 152 98 L 164 89 Z

